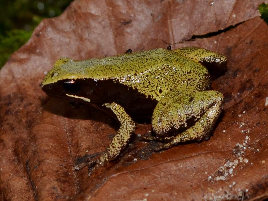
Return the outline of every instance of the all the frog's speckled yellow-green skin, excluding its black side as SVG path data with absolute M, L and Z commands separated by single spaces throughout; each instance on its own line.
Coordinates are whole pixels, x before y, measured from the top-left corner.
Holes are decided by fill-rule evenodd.
M 41 87 L 53 95 L 54 91 L 49 91 L 46 86 L 56 85 L 62 80 L 93 79 L 96 83 L 112 80 L 137 90 L 157 102 L 152 114 L 152 128 L 157 137 L 142 139 L 168 140 L 167 144 L 155 148 L 159 150 L 182 141 L 201 140 L 211 132 L 221 113 L 223 95 L 208 91 L 211 77 L 198 62 L 222 64 L 226 63 L 226 57 L 195 47 L 173 51 L 153 49 L 82 61 L 63 57 L 55 62 Z M 56 92 L 55 95 L 59 96 Z M 90 95 L 81 96 L 79 91 L 60 96 L 97 104 L 92 102 Z M 109 102 L 103 106 L 113 111 L 121 127 L 107 151 L 98 159 L 97 166 L 117 157 L 135 129 L 131 117 L 120 105 Z

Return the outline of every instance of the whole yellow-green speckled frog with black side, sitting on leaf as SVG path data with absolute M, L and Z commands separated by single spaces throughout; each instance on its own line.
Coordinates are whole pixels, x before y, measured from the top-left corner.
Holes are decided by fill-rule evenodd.
M 136 123 L 148 119 L 154 134 L 138 139 L 164 142 L 156 151 L 207 138 L 224 101 L 221 92 L 211 89 L 209 71 L 224 71 L 226 63 L 224 55 L 199 47 L 129 49 L 87 60 L 61 57 L 40 86 L 50 96 L 104 110 L 120 123 L 109 146 L 91 163 L 90 175 L 116 159 L 129 144 Z

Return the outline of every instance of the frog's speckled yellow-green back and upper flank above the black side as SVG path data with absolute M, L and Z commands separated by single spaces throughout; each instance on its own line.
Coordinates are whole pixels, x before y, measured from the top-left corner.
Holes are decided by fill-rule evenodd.
M 66 78 L 69 75 L 69 79 L 113 80 L 157 100 L 178 83 L 210 79 L 207 69 L 201 64 L 166 49 L 101 59 L 70 60 L 61 65 L 59 70 L 64 71 Z M 59 74 L 58 72 L 58 76 Z

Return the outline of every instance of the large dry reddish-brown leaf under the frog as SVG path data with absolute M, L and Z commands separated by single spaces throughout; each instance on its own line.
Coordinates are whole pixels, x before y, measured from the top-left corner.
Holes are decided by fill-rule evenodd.
M 256 17 L 262 2 L 80 0 L 42 21 L 0 71 L 0 200 L 268 198 L 268 26 Z M 213 82 L 225 104 L 210 140 L 161 152 L 133 141 L 91 177 L 87 168 L 74 171 L 79 156 L 105 149 L 118 125 L 88 105 L 48 97 L 39 87 L 44 73 L 61 56 L 168 44 L 228 58 L 225 75 Z M 150 129 L 137 126 L 135 133 Z

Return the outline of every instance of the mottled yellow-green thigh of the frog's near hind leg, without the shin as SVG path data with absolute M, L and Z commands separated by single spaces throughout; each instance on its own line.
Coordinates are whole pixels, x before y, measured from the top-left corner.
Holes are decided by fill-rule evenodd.
M 170 131 L 187 128 L 189 119 L 197 121 L 210 107 L 223 100 L 220 92 L 196 88 L 182 83 L 158 102 L 152 115 L 155 133 L 164 136 Z

